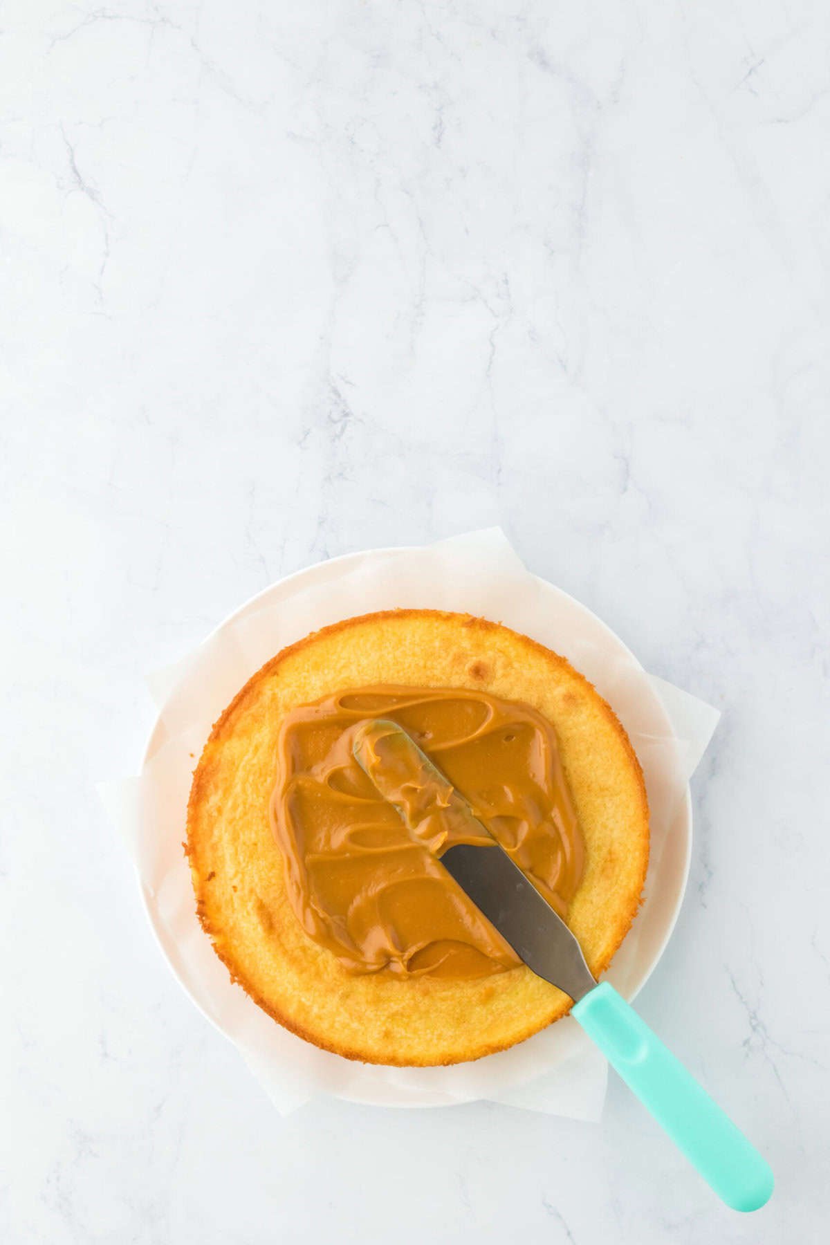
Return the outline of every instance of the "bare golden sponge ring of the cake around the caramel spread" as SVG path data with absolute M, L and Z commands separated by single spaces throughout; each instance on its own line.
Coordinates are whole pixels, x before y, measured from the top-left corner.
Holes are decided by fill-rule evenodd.
M 610 706 L 557 654 L 485 619 L 385 610 L 284 649 L 215 722 L 193 776 L 188 842 L 197 911 L 259 1006 L 352 1059 L 457 1063 L 504 1050 L 564 1016 L 570 998 L 521 966 L 480 980 L 350 974 L 291 910 L 268 804 L 280 721 L 330 691 L 372 684 L 482 688 L 556 728 L 586 845 L 569 924 L 596 976 L 640 905 L 648 864 L 642 771 Z

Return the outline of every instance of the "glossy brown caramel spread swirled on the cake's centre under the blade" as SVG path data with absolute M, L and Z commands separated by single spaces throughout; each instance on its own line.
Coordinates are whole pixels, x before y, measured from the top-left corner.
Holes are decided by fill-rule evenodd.
M 403 727 L 441 773 L 407 772 L 375 718 Z M 399 813 L 355 758 L 361 731 Z M 464 802 L 487 828 L 480 835 Z M 484 844 L 489 832 L 561 916 L 582 875 L 553 726 L 480 691 L 378 686 L 292 710 L 271 823 L 294 911 L 353 972 L 480 977 L 520 962 L 442 868 L 453 843 Z

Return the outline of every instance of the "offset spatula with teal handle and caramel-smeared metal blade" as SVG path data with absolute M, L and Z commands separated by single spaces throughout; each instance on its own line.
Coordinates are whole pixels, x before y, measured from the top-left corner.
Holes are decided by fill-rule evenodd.
M 392 743 L 401 766 L 385 769 L 373 751 L 377 735 Z M 469 819 L 470 835 L 488 832 L 463 797 L 397 723 L 376 720 L 358 732 L 355 756 L 381 796 L 398 809 L 413 829 L 443 808 L 452 792 L 454 828 Z M 412 798 L 413 783 L 401 774 L 421 774 L 427 787 L 441 791 L 438 806 Z M 663 1046 L 635 1010 L 607 981 L 597 985 L 582 950 L 567 925 L 543 899 L 521 869 L 493 840 L 492 847 L 465 843 L 438 849 L 442 865 L 538 976 L 559 986 L 574 1000 L 574 1016 L 600 1047 L 626 1084 L 636 1093 L 674 1144 L 694 1164 L 719 1198 L 734 1210 L 758 1210 L 773 1191 L 773 1173 L 728 1116 L 709 1098 L 683 1064 Z

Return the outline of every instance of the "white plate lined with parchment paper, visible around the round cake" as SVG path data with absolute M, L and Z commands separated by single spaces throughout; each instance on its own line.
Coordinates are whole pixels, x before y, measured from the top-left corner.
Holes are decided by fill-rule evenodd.
M 212 723 L 285 645 L 329 622 L 394 606 L 469 611 L 540 640 L 595 684 L 628 731 L 646 774 L 651 859 L 643 905 L 607 977 L 627 998 L 636 994 L 677 916 L 691 842 L 687 784 L 719 715 L 647 675 L 585 606 L 530 574 L 498 528 L 418 548 L 351 554 L 289 576 L 183 661 L 148 679 L 159 721 L 142 772 L 100 789 L 138 872 L 151 924 L 184 989 L 236 1045 L 281 1113 L 330 1093 L 397 1107 L 485 1098 L 599 1119 L 606 1063 L 570 1017 L 473 1063 L 355 1063 L 304 1042 L 261 1012 L 230 982 L 197 921 L 182 840 L 190 776 Z

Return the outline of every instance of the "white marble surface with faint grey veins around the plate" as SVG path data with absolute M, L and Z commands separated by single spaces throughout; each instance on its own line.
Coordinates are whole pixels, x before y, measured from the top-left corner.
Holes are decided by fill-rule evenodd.
M 830 1215 L 828 7 L 0 11 L 0 1235 L 818 1241 Z M 500 523 L 723 710 L 640 998 L 769 1155 L 612 1083 L 280 1119 L 95 796 L 143 672 L 279 575 Z

